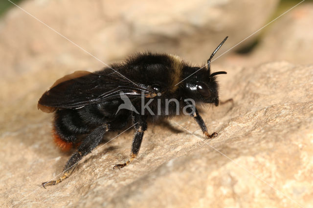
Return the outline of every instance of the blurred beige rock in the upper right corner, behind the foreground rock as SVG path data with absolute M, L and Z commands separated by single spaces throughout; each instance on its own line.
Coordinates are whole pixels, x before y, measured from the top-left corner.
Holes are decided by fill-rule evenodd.
M 270 25 L 268 33 L 248 58 L 252 64 L 285 60 L 312 64 L 313 4 L 300 4 Z

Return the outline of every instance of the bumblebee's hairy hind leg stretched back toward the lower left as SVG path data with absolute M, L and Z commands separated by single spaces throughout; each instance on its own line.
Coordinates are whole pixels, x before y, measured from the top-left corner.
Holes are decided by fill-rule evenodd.
M 45 188 L 45 186 L 56 185 L 66 179 L 73 172 L 79 161 L 99 145 L 107 129 L 107 125 L 101 125 L 92 130 L 82 141 L 82 144 L 78 147 L 78 151 L 75 152 L 67 161 L 67 164 L 62 172 L 62 176 L 55 181 L 44 182 L 42 183 L 42 186 Z

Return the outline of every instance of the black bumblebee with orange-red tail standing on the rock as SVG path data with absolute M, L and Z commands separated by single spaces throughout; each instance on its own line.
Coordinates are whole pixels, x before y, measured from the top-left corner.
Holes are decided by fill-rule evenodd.
M 185 111 L 208 138 L 216 137 L 216 132 L 207 132 L 195 104 L 219 105 L 215 76 L 226 72 L 211 73 L 210 62 L 227 38 L 212 53 L 207 67 L 193 67 L 168 54 L 142 53 L 101 71 L 78 71 L 56 81 L 40 98 L 38 108 L 55 112 L 55 143 L 63 150 L 77 146 L 78 150 L 67 161 L 63 175 L 43 187 L 67 178 L 108 131 L 135 128 L 130 159 L 114 166 L 118 168 L 137 156 L 147 122 L 156 123 Z

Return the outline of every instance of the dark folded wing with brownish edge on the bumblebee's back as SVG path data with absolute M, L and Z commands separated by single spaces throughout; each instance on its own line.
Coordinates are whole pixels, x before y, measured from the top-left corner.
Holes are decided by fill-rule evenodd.
M 147 90 L 146 86 L 136 86 L 116 73 L 77 71 L 57 80 L 38 101 L 38 109 L 50 113 L 58 108 L 79 108 L 116 99 L 121 94 L 140 97 Z

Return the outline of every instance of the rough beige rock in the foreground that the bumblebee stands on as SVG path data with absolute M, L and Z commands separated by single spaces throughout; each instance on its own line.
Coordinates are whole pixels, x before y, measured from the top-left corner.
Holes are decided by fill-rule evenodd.
M 229 73 L 220 76 L 221 99 L 232 97 L 234 104 L 201 113 L 218 137 L 204 139 L 189 117 L 150 125 L 134 163 L 113 170 L 128 158 L 133 134 L 128 131 L 47 189 L 41 182 L 56 177 L 69 154 L 52 142 L 51 114 L 35 109 L 42 89 L 21 99 L 23 110 L 17 108 L 21 103 L 2 108 L 8 121 L 19 117 L 15 127 L 1 125 L 1 207 L 311 205 L 313 65 L 271 62 L 236 74 L 224 70 Z

